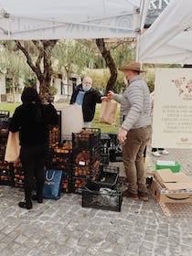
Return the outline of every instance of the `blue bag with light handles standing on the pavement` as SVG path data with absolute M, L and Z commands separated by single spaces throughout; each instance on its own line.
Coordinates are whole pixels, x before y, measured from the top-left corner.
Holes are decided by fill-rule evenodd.
M 62 170 L 46 170 L 43 197 L 59 199 L 62 181 Z

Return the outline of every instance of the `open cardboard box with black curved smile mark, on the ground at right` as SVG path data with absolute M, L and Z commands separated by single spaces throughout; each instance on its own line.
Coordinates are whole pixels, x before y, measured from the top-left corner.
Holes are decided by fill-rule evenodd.
M 158 202 L 192 203 L 192 180 L 186 174 L 170 169 L 155 171 L 151 190 Z

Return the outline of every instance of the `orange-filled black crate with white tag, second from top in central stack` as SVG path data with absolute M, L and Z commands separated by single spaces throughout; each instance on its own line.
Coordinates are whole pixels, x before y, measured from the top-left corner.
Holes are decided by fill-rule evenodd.
M 100 145 L 89 149 L 72 149 L 72 163 L 75 165 L 93 165 L 96 161 L 100 160 Z

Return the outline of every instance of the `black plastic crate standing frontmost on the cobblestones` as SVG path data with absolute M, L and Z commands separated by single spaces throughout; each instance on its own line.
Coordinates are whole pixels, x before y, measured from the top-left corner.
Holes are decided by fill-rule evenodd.
M 101 187 L 99 191 L 82 187 L 82 207 L 99 208 L 105 210 L 121 211 L 123 201 L 123 191 L 120 188 Z

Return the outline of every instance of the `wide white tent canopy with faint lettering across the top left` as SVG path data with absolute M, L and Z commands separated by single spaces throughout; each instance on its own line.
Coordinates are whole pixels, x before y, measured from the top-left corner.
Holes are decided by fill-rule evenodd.
M 0 0 L 0 39 L 137 37 L 149 0 Z

